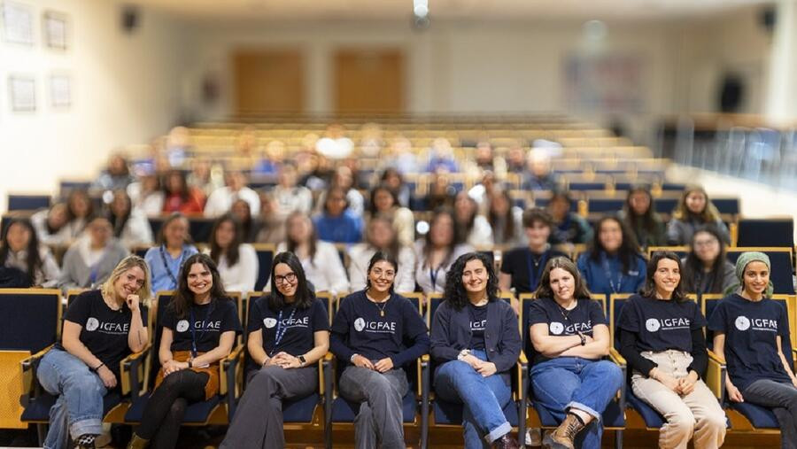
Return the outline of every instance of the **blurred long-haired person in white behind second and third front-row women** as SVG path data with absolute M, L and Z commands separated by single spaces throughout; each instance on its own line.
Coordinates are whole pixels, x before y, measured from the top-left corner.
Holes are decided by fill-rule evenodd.
M 241 225 L 229 213 L 213 224 L 210 255 L 219 268 L 221 283 L 227 291 L 251 291 L 258 280 L 258 254 L 251 244 L 242 243 Z

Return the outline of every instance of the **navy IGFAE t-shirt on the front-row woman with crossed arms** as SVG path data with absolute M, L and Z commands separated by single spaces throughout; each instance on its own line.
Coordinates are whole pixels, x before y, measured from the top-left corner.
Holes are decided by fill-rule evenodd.
M 593 299 L 578 299 L 576 307 L 570 310 L 563 310 L 553 298 L 536 299 L 531 301 L 527 323 L 528 326 L 547 324 L 550 336 L 574 336 L 580 332 L 592 337 L 595 326 L 607 325 L 603 306 Z M 536 351 L 531 357 L 533 365 L 546 360 L 551 359 Z

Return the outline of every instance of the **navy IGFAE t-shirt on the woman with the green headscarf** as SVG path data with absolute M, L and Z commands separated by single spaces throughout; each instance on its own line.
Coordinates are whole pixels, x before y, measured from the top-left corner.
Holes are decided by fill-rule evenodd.
M 725 334 L 725 362 L 739 391 L 758 379 L 792 382 L 778 356 L 776 337 L 789 339 L 788 315 L 778 301 L 723 298 L 708 319 L 708 329 Z

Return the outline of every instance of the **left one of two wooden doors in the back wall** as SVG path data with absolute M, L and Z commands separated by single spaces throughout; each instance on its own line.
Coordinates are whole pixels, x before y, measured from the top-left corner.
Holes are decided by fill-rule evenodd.
M 233 66 L 236 112 L 304 110 L 305 77 L 298 50 L 238 50 Z

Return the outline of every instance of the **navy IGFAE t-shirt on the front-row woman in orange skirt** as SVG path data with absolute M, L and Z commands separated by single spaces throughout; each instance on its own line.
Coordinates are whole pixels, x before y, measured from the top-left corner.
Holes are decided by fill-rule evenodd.
M 190 321 L 193 320 L 193 326 Z M 241 332 L 241 321 L 238 320 L 236 303 L 228 299 L 213 299 L 208 304 L 193 304 L 183 318 L 177 318 L 170 306 L 163 317 L 163 327 L 171 329 L 174 337 L 174 351 L 191 351 L 193 341 L 197 339 L 197 352 L 208 352 L 219 346 L 221 334 L 228 330 Z M 193 332 L 191 331 L 193 328 Z

